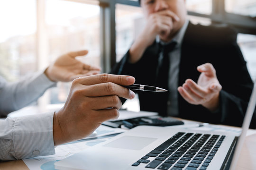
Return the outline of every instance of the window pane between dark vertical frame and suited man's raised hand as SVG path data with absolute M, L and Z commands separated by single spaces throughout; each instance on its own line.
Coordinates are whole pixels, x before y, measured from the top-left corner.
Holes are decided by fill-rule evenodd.
M 116 5 L 116 60 L 128 51 L 135 37 L 144 27 L 142 9 L 128 5 Z

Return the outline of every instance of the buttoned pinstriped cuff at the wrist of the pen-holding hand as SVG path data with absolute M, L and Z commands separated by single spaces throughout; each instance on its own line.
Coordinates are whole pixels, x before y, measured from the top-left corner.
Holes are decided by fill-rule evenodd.
M 16 118 L 13 127 L 14 157 L 26 159 L 55 154 L 54 113 Z

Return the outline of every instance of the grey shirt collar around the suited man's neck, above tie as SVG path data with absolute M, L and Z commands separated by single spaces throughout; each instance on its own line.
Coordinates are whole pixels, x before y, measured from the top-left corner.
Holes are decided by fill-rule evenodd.
M 185 34 L 186 30 L 187 30 L 188 24 L 189 24 L 189 20 L 187 19 L 187 20 L 185 21 L 184 25 L 182 26 L 182 28 L 179 30 L 179 32 L 178 32 L 178 33 L 174 36 L 174 38 L 171 40 L 171 41 L 176 41 L 176 42 L 177 42 L 177 46 L 182 43 L 182 40 L 183 40 L 184 34 Z M 169 43 L 169 42 L 163 42 L 163 41 L 160 39 L 159 35 L 156 35 L 155 41 L 156 41 L 157 43 L 161 43 L 161 44 L 163 44 L 163 45 Z M 170 42 L 171 42 L 171 41 L 170 41 Z

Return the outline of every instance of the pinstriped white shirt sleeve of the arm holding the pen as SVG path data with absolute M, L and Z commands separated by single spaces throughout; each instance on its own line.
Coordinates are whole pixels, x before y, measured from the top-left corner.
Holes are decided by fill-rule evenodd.
M 0 160 L 55 154 L 54 113 L 0 120 Z

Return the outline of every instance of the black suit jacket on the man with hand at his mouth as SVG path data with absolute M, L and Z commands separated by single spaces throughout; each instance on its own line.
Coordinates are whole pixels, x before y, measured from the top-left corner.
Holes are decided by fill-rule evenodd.
M 178 85 L 182 86 L 188 78 L 197 82 L 200 75 L 196 69 L 197 66 L 209 62 L 216 69 L 222 90 L 220 91 L 220 108 L 214 113 L 201 105 L 186 102 L 179 94 L 179 117 L 215 124 L 242 125 L 253 82 L 236 40 L 237 33 L 229 27 L 189 23 L 181 46 Z M 128 62 L 128 51 L 114 66 L 111 73 L 134 76 L 137 84 L 163 87 L 155 82 L 158 51 L 158 44 L 155 42 L 146 49 L 142 58 L 135 64 Z M 167 115 L 168 93 L 137 93 L 141 110 Z M 255 115 L 250 127 L 256 128 Z

